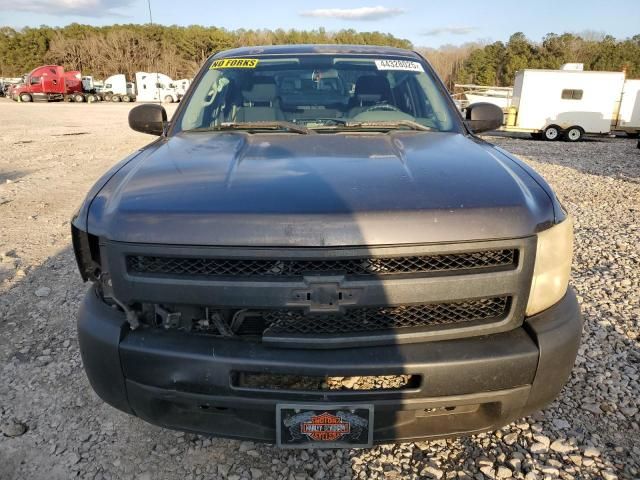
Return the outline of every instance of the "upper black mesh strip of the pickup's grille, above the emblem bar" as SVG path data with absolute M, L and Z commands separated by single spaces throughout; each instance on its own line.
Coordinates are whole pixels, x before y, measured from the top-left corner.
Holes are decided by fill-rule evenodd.
M 169 276 L 291 277 L 336 272 L 345 275 L 387 275 L 515 267 L 515 249 L 441 255 L 360 257 L 322 260 L 244 260 L 128 255 L 129 273 Z

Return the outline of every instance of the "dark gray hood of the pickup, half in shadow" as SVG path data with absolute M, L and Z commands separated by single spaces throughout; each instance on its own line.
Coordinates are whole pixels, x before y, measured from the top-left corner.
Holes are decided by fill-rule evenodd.
M 89 231 L 177 245 L 341 246 L 522 237 L 553 222 L 524 169 L 457 133 L 181 133 L 100 190 Z

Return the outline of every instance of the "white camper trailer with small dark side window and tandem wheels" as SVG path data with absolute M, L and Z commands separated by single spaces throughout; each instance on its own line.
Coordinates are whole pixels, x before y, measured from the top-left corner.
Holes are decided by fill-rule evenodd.
M 609 133 L 616 124 L 624 72 L 522 70 L 516 73 L 502 130 L 578 141 L 585 133 Z

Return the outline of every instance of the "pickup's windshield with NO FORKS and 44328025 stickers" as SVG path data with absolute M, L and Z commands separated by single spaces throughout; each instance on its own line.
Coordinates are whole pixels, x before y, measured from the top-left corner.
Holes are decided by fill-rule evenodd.
M 308 130 L 456 128 L 432 73 L 411 58 L 263 55 L 210 60 L 205 68 L 177 131 L 249 130 L 261 122 Z

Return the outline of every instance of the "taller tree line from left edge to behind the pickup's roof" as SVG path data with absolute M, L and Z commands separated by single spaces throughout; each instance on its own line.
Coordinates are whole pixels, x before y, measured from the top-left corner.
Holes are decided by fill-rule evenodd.
M 340 30 L 226 30 L 218 27 L 71 24 L 63 28 L 0 28 L 0 76 L 17 77 L 39 65 L 62 65 L 105 78 L 137 71 L 192 77 L 209 55 L 246 45 L 342 43 L 411 48 L 380 32 Z

